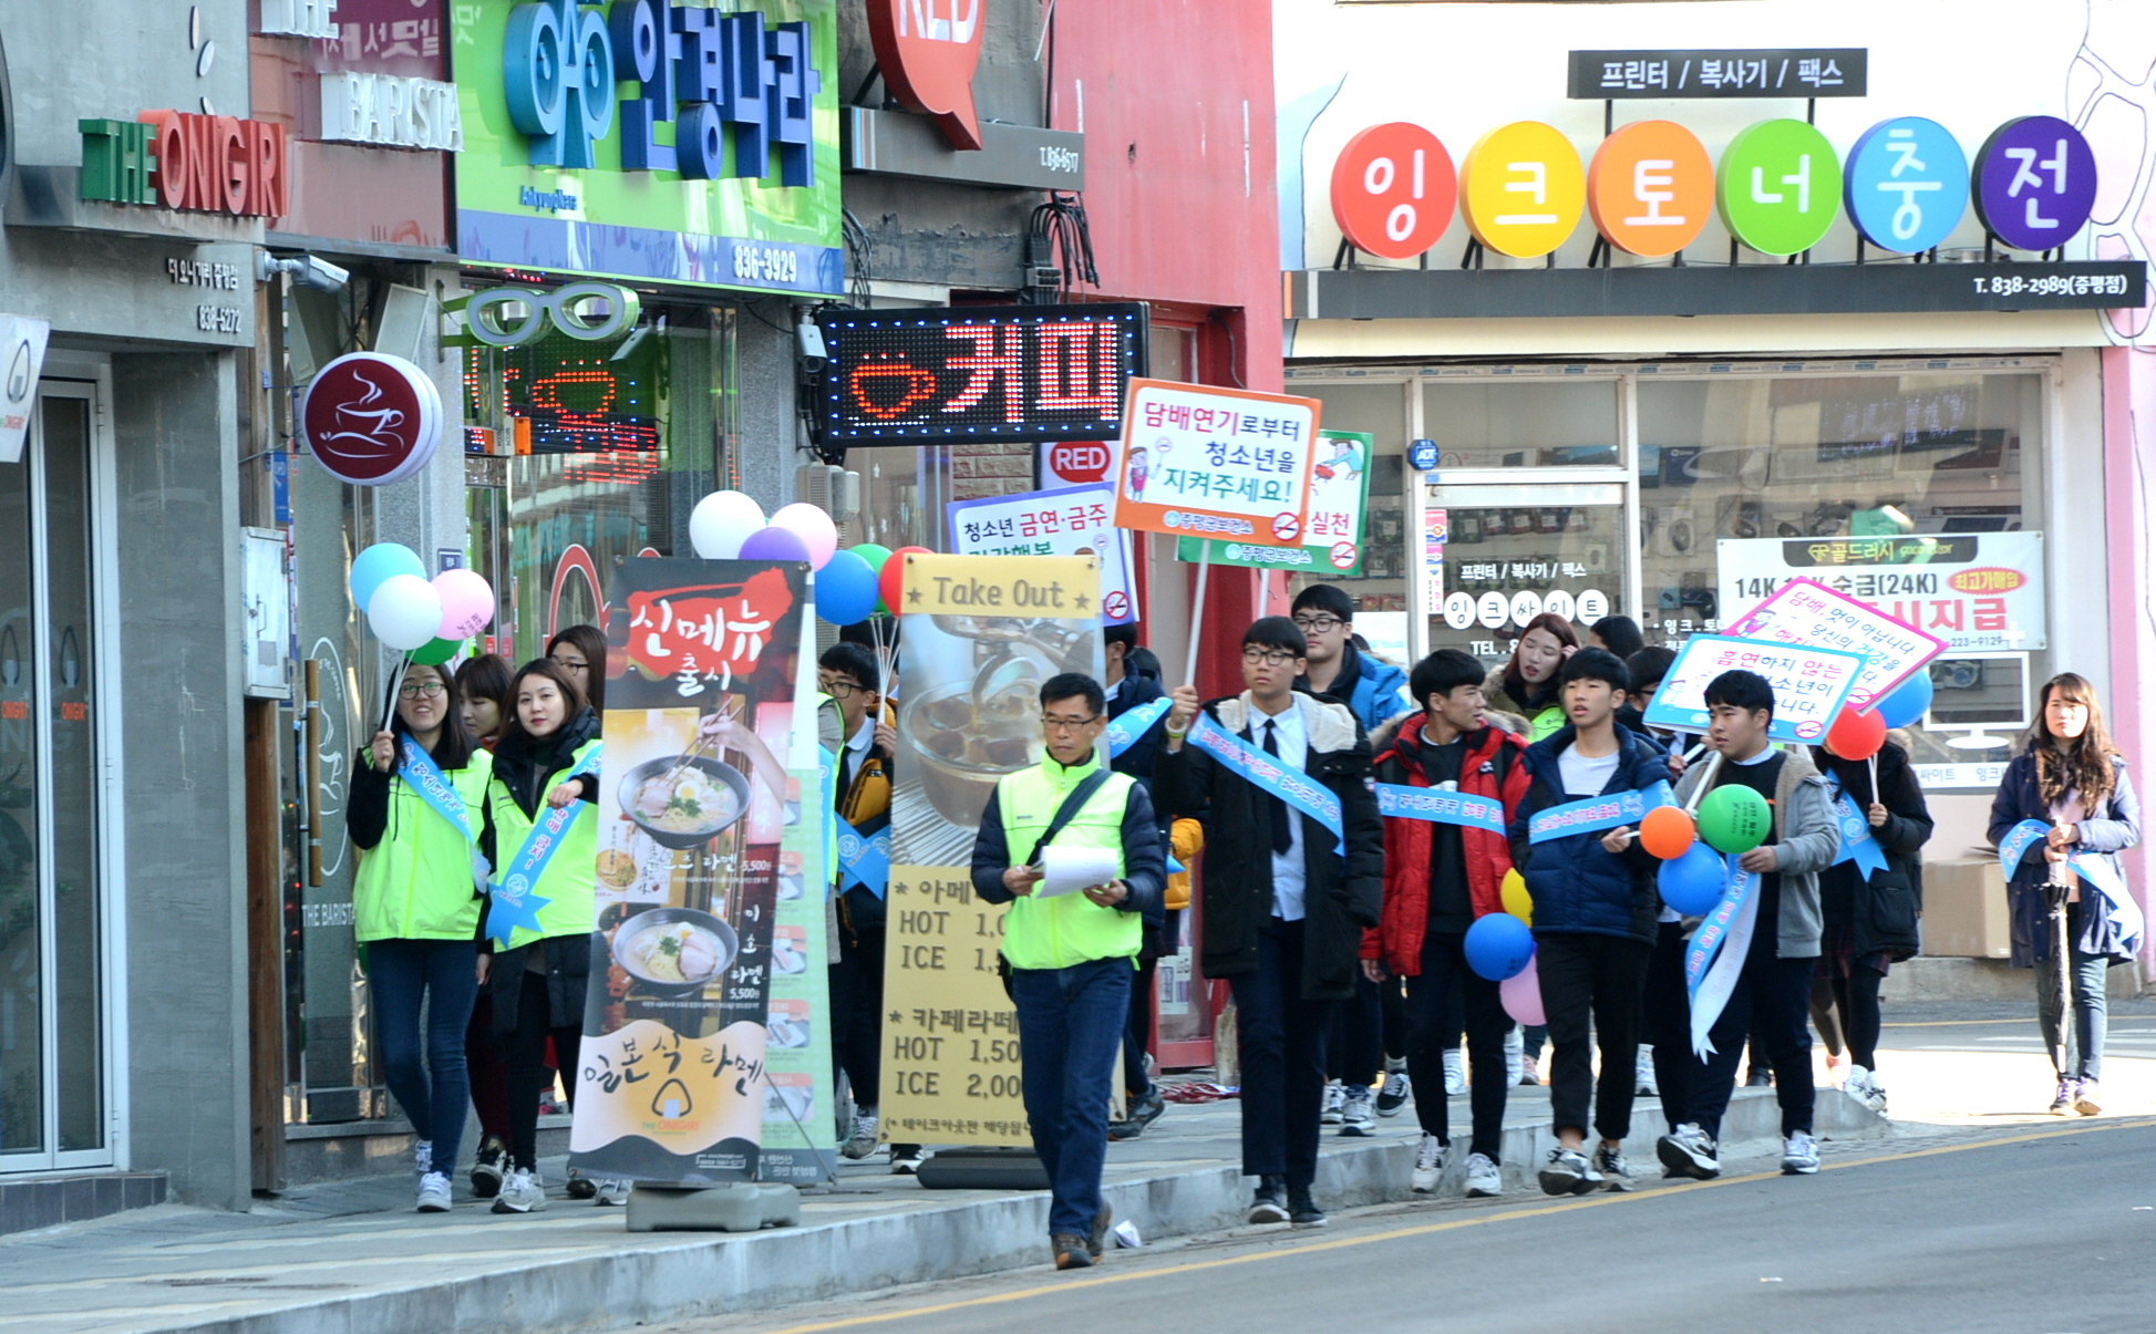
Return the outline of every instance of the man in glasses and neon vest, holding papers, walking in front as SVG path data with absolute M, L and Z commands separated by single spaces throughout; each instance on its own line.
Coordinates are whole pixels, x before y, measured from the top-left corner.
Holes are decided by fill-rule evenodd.
M 1104 767 L 1100 683 L 1063 672 L 1041 685 L 1048 754 L 996 782 L 972 843 L 972 888 L 1009 903 L 1003 959 L 1018 1004 L 1018 1052 L 1033 1149 L 1048 1168 L 1056 1269 L 1084 1269 L 1108 1239 L 1100 1198 L 1108 1090 L 1130 1013 L 1143 914 L 1158 912 L 1166 862 L 1145 789 Z M 1048 879 L 1044 849 L 1095 853 L 1097 884 Z M 1112 873 L 1106 869 L 1112 866 Z

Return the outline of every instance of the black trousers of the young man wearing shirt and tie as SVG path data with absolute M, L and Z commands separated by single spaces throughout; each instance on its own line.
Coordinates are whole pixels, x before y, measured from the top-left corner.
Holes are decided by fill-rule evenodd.
M 1302 922 L 1272 918 L 1257 933 L 1257 970 L 1229 978 L 1242 1056 L 1242 1175 L 1317 1179 L 1317 1116 L 1326 1099 L 1330 1000 L 1302 998 Z

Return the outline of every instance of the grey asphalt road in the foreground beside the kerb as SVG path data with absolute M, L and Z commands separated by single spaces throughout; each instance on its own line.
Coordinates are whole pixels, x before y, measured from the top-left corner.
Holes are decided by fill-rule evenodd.
M 921 1284 L 675 1334 L 2156 1330 L 2156 1118 L 1828 1147 L 1630 1196 L 1451 1200 Z M 1046 1246 L 1044 1246 L 1046 1256 Z

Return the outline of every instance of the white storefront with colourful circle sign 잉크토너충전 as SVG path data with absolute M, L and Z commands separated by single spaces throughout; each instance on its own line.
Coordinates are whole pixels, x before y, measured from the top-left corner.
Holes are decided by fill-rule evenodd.
M 1910 728 L 1934 860 L 2050 675 L 2134 754 L 2145 153 L 2085 78 L 2119 34 L 2053 9 L 1865 47 L 1781 2 L 1526 41 L 1514 4 L 1283 11 L 1287 381 L 1378 437 L 1373 547 L 1397 513 L 1358 629 L 1498 666 L 1544 612 L 1675 644 L 1826 582 L 1949 642 Z

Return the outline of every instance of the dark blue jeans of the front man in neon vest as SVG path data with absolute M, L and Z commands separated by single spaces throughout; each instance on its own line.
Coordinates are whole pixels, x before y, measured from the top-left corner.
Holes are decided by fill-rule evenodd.
M 1054 1192 L 1050 1235 L 1089 1237 L 1100 1213 L 1108 1097 L 1115 1050 L 1130 1019 L 1132 972 L 1130 959 L 1011 970 L 1026 1121 Z

